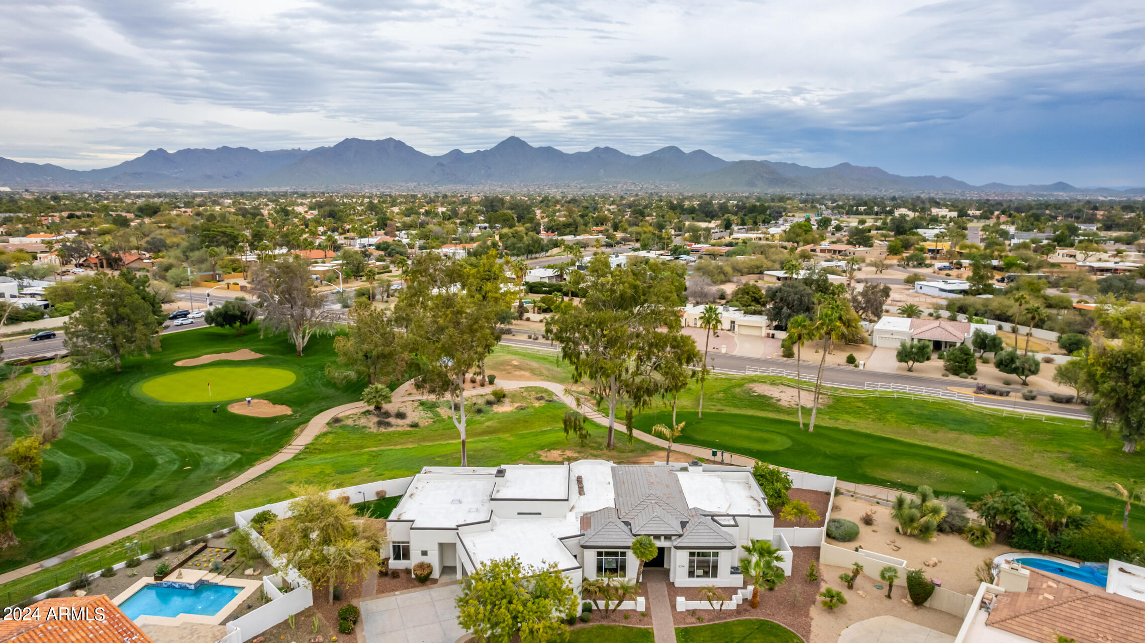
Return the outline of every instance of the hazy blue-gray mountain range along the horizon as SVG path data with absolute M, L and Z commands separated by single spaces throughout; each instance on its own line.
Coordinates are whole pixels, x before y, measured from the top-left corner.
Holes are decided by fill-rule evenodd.
M 488 150 L 420 152 L 395 138 L 346 138 L 313 150 L 150 150 L 112 167 L 77 170 L 0 158 L 0 185 L 30 189 L 255 190 L 362 188 L 619 188 L 702 192 L 1053 193 L 1140 196 L 1145 189 L 971 185 L 949 176 L 900 176 L 843 162 L 728 161 L 671 145 L 641 156 L 613 148 L 562 152 L 510 136 Z

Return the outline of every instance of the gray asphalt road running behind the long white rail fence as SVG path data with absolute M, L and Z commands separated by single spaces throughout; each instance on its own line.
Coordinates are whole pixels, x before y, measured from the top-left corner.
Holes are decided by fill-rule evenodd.
M 502 343 L 510 346 L 521 346 L 529 348 L 543 348 L 547 349 L 550 342 L 547 341 L 531 341 L 518 336 L 506 336 L 502 339 Z M 554 349 L 555 350 L 555 349 Z M 749 357 L 744 355 L 726 355 L 726 354 L 710 354 L 708 355 L 709 360 L 717 371 L 724 371 L 728 373 L 747 373 L 748 367 L 755 368 L 782 368 L 784 371 L 793 371 L 795 362 L 792 359 L 781 359 L 771 357 Z M 814 376 L 819 368 L 818 363 L 811 360 L 804 360 L 803 372 L 804 376 Z M 947 390 L 951 386 L 951 381 L 946 378 L 926 378 L 916 375 L 905 375 L 901 373 L 883 373 L 878 371 L 867 371 L 863 368 L 855 368 L 853 366 L 827 366 L 823 368 L 823 381 L 829 383 L 845 384 L 848 387 L 862 388 L 868 382 L 870 383 L 887 383 L 887 384 L 901 384 L 910 387 L 926 387 L 940 390 Z M 961 383 L 962 386 L 971 386 L 970 382 L 964 382 L 962 380 L 956 380 L 955 383 Z M 1045 397 L 1045 391 L 1040 391 L 1043 397 Z M 1060 404 L 1039 404 L 1037 402 L 1026 402 L 1021 399 L 1021 396 L 1016 392 L 1011 394 L 1009 399 L 994 399 L 994 398 L 979 398 L 987 406 L 995 406 L 997 408 L 1009 408 L 1012 411 L 1034 411 L 1034 412 L 1050 412 L 1058 415 L 1067 415 L 1071 418 L 1079 418 L 1083 420 L 1089 419 L 1089 414 L 1083 408 L 1074 408 L 1072 406 L 1064 406 Z

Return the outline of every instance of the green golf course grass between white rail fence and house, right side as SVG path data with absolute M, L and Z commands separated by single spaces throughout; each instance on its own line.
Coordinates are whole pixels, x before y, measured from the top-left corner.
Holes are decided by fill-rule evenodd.
M 979 444 L 984 450 L 986 445 L 997 445 L 1000 434 L 1020 432 L 1025 427 L 1025 435 L 1011 436 L 1011 439 L 1027 450 L 1034 448 L 1030 444 L 1034 439 L 1029 436 L 1033 430 L 1052 432 L 1067 442 L 1085 443 L 1088 448 L 1074 447 L 1080 452 L 1074 458 L 1106 462 L 1107 481 L 1127 479 L 1132 475 L 1132 466 L 1142 466 L 1140 461 L 1130 461 L 1132 457 L 1121 454 L 1114 445 L 1093 448 L 1103 442 L 1115 440 L 1105 440 L 1080 423 L 1047 424 L 908 399 L 837 397 L 820 411 L 815 432 L 807 432 L 800 430 L 792 418 L 793 408 L 781 407 L 765 395 L 753 395 L 749 386 L 752 381 L 759 380 L 740 378 L 709 382 L 716 386 L 709 387 L 702 420 L 690 408 L 678 411 L 678 421 L 685 422 L 685 429 L 677 442 L 726 448 L 773 465 L 832 475 L 848 482 L 908 491 L 930 485 L 939 493 L 958 494 L 970 500 L 998 489 L 1047 489 L 1074 498 L 1087 510 L 1116 514 L 1118 517 L 1123 505 L 1116 499 L 1061 479 L 1076 479 L 1067 476 L 1076 465 L 1067 466 L 1060 476 L 1050 477 L 1049 471 L 1041 475 L 1032 470 L 1030 461 L 1036 460 L 1035 455 L 1025 459 L 996 448 L 993 458 L 987 459 L 966 451 L 973 451 L 973 445 L 979 443 L 985 443 Z M 663 407 L 642 413 L 635 419 L 637 428 L 647 431 L 653 424 L 663 422 L 669 413 L 670 410 Z M 808 412 L 804 410 L 804 421 L 807 419 Z M 1041 438 L 1037 442 L 1043 450 L 1052 448 L 1056 453 L 1063 450 L 1057 442 L 1045 444 Z M 1092 453 L 1095 451 L 1100 455 Z M 1116 469 L 1121 471 L 1113 473 Z M 1055 467 L 1055 470 L 1060 469 Z M 1135 533 L 1145 533 L 1145 516 L 1131 515 L 1130 525 Z

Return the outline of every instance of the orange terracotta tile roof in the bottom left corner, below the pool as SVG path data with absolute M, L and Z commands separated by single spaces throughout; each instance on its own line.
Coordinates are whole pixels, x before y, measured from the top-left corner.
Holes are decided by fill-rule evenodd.
M 103 594 L 47 598 L 29 618 L 0 620 L 5 643 L 153 643 Z

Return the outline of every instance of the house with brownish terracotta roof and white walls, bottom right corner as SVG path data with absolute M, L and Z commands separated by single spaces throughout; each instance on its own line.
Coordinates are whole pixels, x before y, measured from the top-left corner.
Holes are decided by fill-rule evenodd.
M 1128 571 L 1129 570 L 1132 571 Z M 1118 571 L 1120 570 L 1120 571 Z M 982 595 L 963 624 L 964 643 L 1145 643 L 1145 567 L 1110 561 L 1112 574 L 1136 578 L 1134 594 L 1003 563 L 996 585 Z M 1121 572 L 1124 572 L 1123 574 Z M 1110 584 L 1115 575 L 1110 577 Z M 985 592 L 984 592 L 985 589 Z M 1004 592 L 1000 592 L 1004 590 Z

